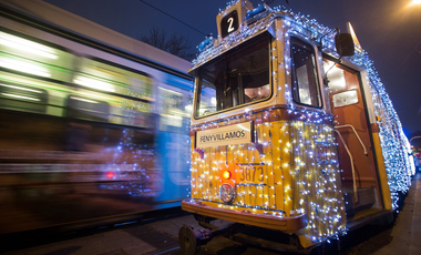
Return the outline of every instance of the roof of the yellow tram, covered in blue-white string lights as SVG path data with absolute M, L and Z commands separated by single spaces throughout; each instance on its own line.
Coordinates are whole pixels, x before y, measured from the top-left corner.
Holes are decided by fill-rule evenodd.
M 227 9 L 240 3 L 240 1 L 247 2 L 247 0 L 237 0 L 228 2 L 227 7 L 219 11 L 218 16 L 224 12 L 226 13 Z M 266 4 L 264 6 L 265 8 L 260 8 L 264 10 L 257 12 L 258 14 L 253 17 L 254 20 L 246 18 L 240 23 L 240 29 L 238 29 L 237 31 L 226 35 L 225 38 L 207 38 L 203 42 L 203 50 L 199 52 L 197 58 L 193 60 L 193 67 L 189 69 L 189 72 L 195 71 L 198 67 L 203 65 L 204 63 L 217 58 L 224 52 L 227 52 L 238 47 L 239 44 L 248 41 L 249 39 L 255 38 L 258 34 L 261 34 L 265 31 L 268 31 L 274 37 L 276 37 L 276 31 L 274 31 L 273 27 L 273 23 L 276 19 L 285 20 L 286 28 L 283 31 L 285 32 L 285 34 L 281 35 L 288 37 L 288 33 L 299 34 L 302 38 L 315 41 L 319 45 L 321 45 L 324 53 L 333 55 L 337 59 L 340 58 L 339 54 L 336 52 L 335 29 L 322 26 L 318 23 L 315 19 L 310 19 L 308 16 L 295 13 L 292 10 L 288 10 L 284 7 L 276 7 L 271 9 Z M 253 11 L 254 10 L 248 12 Z M 384 104 L 387 105 L 388 110 L 392 113 L 392 115 L 397 116 L 392 102 L 388 93 L 386 92 L 386 89 L 380 78 L 378 76 L 373 61 L 369 58 L 368 53 L 359 45 L 359 43 L 356 45 L 355 55 L 343 57 L 342 59 L 367 70 L 368 79 L 370 80 L 372 88 L 374 88 L 380 93 Z M 399 118 L 397 116 L 397 119 Z

